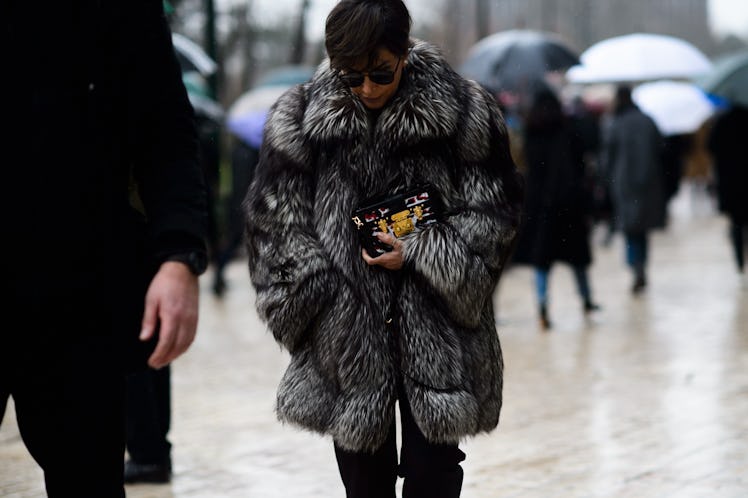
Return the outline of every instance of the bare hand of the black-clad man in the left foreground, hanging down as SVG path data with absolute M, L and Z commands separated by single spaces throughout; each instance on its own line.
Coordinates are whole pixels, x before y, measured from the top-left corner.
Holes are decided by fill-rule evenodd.
M 161 264 L 145 296 L 140 340 L 150 339 L 158 326 L 158 344 L 148 365 L 161 368 L 187 351 L 195 339 L 200 289 L 187 265 Z

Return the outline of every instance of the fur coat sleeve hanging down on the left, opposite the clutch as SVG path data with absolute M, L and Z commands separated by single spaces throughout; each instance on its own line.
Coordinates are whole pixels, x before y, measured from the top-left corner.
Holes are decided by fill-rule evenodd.
M 244 201 L 249 271 L 260 318 L 293 352 L 337 285 L 312 221 L 314 168 L 301 133 L 303 88 L 271 110 L 255 178 Z

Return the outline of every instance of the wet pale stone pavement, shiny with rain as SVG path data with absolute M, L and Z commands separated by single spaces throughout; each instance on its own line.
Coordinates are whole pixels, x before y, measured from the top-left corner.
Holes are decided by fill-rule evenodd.
M 532 272 L 496 294 L 506 362 L 499 428 L 466 441 L 463 498 L 748 496 L 748 277 L 727 224 L 681 191 L 653 235 L 649 288 L 629 292 L 620 237 L 595 237 L 585 319 L 571 272 L 551 274 L 554 327 L 540 330 Z M 245 262 L 223 299 L 202 279 L 198 338 L 173 365 L 169 485 L 129 498 L 343 498 L 331 443 L 275 419 L 287 363 L 254 311 Z M 43 497 L 12 401 L 0 429 L 0 496 Z

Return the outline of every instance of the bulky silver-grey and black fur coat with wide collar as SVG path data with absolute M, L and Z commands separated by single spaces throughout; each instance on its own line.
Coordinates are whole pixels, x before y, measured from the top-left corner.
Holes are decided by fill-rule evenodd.
M 327 61 L 286 92 L 244 202 L 256 306 L 291 355 L 278 417 L 351 451 L 384 441 L 398 378 L 433 442 L 490 431 L 501 409 L 492 294 L 518 229 L 521 177 L 494 99 L 432 45 L 415 40 L 407 60 L 376 120 Z M 421 182 L 447 216 L 402 239 L 402 270 L 368 266 L 351 212 Z

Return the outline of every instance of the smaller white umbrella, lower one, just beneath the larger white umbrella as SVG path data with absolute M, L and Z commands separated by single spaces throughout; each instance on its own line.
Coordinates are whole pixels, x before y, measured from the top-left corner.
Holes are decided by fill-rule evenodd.
M 684 81 L 643 83 L 634 88 L 631 98 L 666 136 L 693 133 L 715 112 L 704 92 Z

